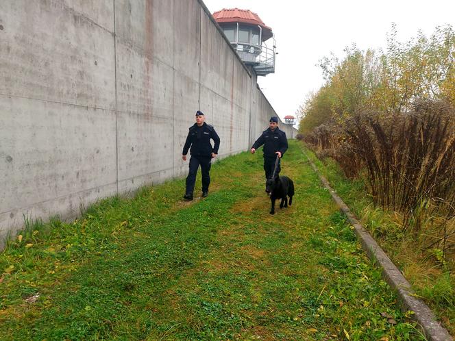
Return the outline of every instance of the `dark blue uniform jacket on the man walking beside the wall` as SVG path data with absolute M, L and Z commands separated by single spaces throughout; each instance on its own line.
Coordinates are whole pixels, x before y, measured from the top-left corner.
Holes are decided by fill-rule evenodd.
M 214 146 L 210 144 L 210 139 L 214 141 Z M 197 123 L 190 127 L 188 136 L 186 137 L 182 155 L 188 153 L 195 156 L 212 156 L 212 153 L 218 154 L 219 136 L 214 127 L 204 122 L 201 127 L 197 127 Z

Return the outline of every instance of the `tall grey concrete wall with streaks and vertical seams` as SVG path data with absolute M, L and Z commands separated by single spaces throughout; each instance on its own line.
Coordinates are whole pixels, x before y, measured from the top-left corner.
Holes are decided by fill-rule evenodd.
M 199 0 L 2 0 L 0 79 L 0 236 L 184 175 L 198 109 L 220 157 L 275 115 Z

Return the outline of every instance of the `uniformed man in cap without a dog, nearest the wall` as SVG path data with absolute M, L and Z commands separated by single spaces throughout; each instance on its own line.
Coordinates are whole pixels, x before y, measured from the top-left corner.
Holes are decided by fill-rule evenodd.
M 190 127 L 186 142 L 183 147 L 182 159 L 186 161 L 186 154 L 190 149 L 190 170 L 186 177 L 186 192 L 184 199 L 193 200 L 195 190 L 197 168 L 201 166 L 202 172 L 202 197 L 207 197 L 208 186 L 210 185 L 210 166 L 212 158 L 217 157 L 219 149 L 219 136 L 217 131 L 205 121 L 204 113 L 197 110 L 196 123 Z M 214 141 L 214 146 L 210 144 L 210 139 Z

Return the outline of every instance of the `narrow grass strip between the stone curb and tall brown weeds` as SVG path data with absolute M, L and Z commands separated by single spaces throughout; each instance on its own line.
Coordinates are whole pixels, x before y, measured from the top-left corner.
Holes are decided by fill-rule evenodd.
M 430 306 L 444 327 L 455 336 L 455 259 L 441 262 L 434 249 L 428 250 L 424 246 L 424 236 L 403 231 L 398 214 L 374 207 L 360 178 L 349 180 L 334 160 L 325 158 L 321 161 L 306 148 L 305 153 L 362 220 L 393 263 L 402 270 L 417 296 Z

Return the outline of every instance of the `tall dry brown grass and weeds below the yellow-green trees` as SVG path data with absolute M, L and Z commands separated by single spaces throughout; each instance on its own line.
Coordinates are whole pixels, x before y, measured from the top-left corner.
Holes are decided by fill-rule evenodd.
M 362 112 L 304 140 L 345 175 L 366 179 L 374 203 L 401 212 L 404 230 L 426 229 L 427 247 L 455 249 L 455 108 L 422 100 L 403 114 Z

